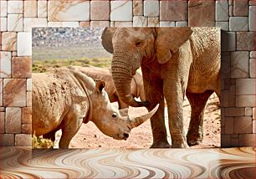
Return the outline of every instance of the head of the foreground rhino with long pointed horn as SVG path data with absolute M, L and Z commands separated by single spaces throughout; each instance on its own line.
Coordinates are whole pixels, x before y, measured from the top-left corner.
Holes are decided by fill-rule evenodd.
M 91 121 L 106 136 L 110 136 L 115 140 L 126 140 L 133 128 L 141 125 L 143 122 L 151 118 L 156 113 L 159 105 L 146 115 L 131 118 L 128 115 L 128 108 L 117 110 L 110 104 L 109 97 L 104 90 L 105 82 L 98 81 L 90 95 L 92 102 Z

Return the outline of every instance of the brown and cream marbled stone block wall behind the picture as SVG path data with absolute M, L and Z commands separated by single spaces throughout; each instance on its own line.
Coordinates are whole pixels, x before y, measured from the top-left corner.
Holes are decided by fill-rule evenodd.
M 214 27 L 222 32 L 222 146 L 254 146 L 255 1 L 1 0 L 0 146 L 31 145 L 33 27 Z

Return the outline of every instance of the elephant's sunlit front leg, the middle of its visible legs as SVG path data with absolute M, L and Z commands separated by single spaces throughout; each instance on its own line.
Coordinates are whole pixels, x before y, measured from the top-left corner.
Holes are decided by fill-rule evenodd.
M 169 130 L 172 138 L 172 148 L 187 148 L 187 141 L 183 129 L 183 100 L 186 86 L 184 83 L 164 84 L 164 95 L 168 108 Z

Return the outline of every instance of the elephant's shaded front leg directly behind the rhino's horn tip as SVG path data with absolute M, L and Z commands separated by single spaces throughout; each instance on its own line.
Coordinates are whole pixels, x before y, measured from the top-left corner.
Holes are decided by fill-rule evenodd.
M 144 89 L 146 93 L 146 100 L 149 101 L 150 106 L 148 110 L 152 110 L 157 104 L 159 108 L 155 115 L 151 117 L 151 130 L 153 136 L 153 144 L 151 148 L 170 148 L 167 141 L 166 125 L 165 125 L 165 103 L 162 93 L 162 81 L 148 81 L 144 79 Z

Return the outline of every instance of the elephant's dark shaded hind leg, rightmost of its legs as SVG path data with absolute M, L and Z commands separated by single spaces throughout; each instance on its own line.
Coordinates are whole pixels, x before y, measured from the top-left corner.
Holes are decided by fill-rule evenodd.
M 202 94 L 186 93 L 192 109 L 191 120 L 187 131 L 187 144 L 189 146 L 198 145 L 202 142 L 204 109 L 212 93 L 212 90 L 207 90 Z

